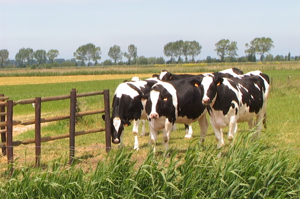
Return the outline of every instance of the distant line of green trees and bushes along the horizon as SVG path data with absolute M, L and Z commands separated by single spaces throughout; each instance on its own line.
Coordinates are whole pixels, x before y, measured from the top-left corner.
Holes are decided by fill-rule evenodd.
M 97 66 L 97 65 L 148 65 L 148 64 L 172 64 L 172 63 L 217 63 L 217 62 L 256 62 L 256 55 L 259 55 L 259 61 L 300 61 L 300 56 L 276 55 L 270 54 L 271 48 L 274 48 L 271 38 L 255 38 L 250 44 L 246 43 L 245 56 L 239 57 L 237 54 L 237 42 L 222 39 L 215 44 L 215 51 L 218 58 L 207 56 L 203 60 L 195 60 L 195 57 L 201 53 L 202 46 L 197 41 L 168 42 L 164 46 L 163 53 L 170 60 L 165 61 L 163 57 L 138 56 L 137 47 L 133 44 L 128 46 L 128 52 L 122 52 L 121 47 L 114 45 L 110 47 L 108 56 L 111 59 L 101 60 L 101 48 L 92 43 L 79 46 L 73 53 L 72 59 L 56 59 L 59 55 L 58 50 L 51 49 L 36 50 L 32 48 L 21 48 L 15 55 L 15 59 L 10 60 L 7 49 L 0 50 L 0 68 L 52 68 L 52 67 L 70 67 L 70 66 Z M 127 61 L 123 62 L 123 56 Z

